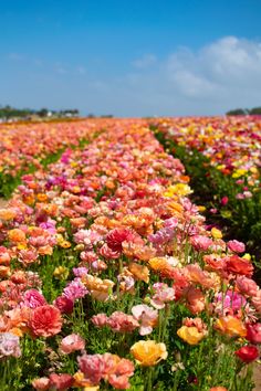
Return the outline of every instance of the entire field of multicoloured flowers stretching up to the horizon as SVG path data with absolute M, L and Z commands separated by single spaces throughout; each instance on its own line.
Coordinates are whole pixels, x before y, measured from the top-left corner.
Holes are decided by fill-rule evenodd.
M 17 188 L 0 209 L 0 390 L 253 390 L 254 264 L 243 231 L 206 221 L 176 157 L 209 172 L 201 186 L 226 178 L 212 214 L 236 226 L 252 215 L 234 208 L 260 213 L 261 121 L 248 124 L 1 126 L 2 194 Z

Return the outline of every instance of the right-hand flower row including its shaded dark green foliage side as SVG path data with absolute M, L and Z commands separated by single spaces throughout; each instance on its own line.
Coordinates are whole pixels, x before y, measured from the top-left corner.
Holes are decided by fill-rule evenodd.
M 178 156 L 205 201 L 208 219 L 260 252 L 261 187 L 258 117 L 154 119 L 157 138 Z

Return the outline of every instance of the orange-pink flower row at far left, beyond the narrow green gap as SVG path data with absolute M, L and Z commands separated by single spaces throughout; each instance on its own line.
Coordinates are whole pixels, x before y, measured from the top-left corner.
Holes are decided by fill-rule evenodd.
M 40 124 L 1 124 L 0 172 L 15 177 L 30 165 L 40 161 L 66 146 L 77 146 L 90 139 L 94 129 L 101 129 L 106 120 L 77 120 Z M 62 135 L 62 136 L 61 136 Z

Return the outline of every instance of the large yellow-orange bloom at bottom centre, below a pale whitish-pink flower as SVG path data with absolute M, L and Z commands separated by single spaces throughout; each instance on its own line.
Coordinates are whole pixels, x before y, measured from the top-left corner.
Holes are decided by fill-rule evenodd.
M 154 340 L 140 340 L 130 348 L 137 363 L 143 367 L 156 366 L 159 361 L 166 360 L 168 352 L 165 344 L 157 344 Z

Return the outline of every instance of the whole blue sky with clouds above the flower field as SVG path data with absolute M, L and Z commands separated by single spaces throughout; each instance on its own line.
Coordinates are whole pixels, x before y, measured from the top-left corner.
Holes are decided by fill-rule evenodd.
M 0 104 L 115 116 L 261 105 L 261 0 L 0 0 Z

